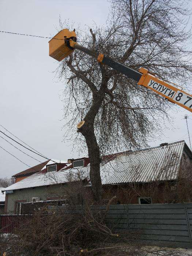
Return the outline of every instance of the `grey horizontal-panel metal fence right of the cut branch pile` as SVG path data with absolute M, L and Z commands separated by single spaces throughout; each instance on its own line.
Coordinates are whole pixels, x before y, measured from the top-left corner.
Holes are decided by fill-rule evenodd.
M 111 205 L 105 222 L 120 233 L 139 230 L 145 242 L 192 248 L 192 203 Z

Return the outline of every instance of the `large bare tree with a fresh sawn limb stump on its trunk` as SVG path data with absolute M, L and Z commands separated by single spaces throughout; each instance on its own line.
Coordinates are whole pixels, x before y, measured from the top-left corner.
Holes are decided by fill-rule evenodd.
M 84 35 L 78 32 L 78 40 L 128 67 L 144 67 L 164 80 L 187 84 L 192 72 L 189 15 L 185 1 L 112 0 L 106 25 Z M 146 145 L 147 136 L 157 136 L 161 121 L 168 117 L 170 103 L 76 50 L 59 70 L 59 77 L 67 79 L 65 127 L 71 132 L 85 121 L 77 139 L 84 136 L 92 190 L 95 200 L 101 200 L 100 155 Z

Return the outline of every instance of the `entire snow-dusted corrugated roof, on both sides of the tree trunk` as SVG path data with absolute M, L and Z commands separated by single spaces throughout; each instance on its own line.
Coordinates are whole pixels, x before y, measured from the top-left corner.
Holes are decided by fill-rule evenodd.
M 184 144 L 185 142 L 181 141 L 126 154 L 120 153 L 111 161 L 101 164 L 102 184 L 174 180 L 180 168 Z M 89 168 L 89 165 L 68 170 L 64 167 L 59 172 L 36 173 L 4 190 L 65 183 L 69 179 L 78 180 L 79 174 L 82 179 L 89 179 Z

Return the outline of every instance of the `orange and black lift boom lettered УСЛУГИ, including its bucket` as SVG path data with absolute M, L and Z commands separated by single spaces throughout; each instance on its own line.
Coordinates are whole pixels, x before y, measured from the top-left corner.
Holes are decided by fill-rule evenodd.
M 92 50 L 79 45 L 76 42 L 75 31 L 70 32 L 68 29 L 63 29 L 49 41 L 49 56 L 58 61 L 61 61 L 65 57 L 69 56 L 74 49 L 78 49 L 94 57 L 99 63 L 108 65 L 128 78 L 132 78 L 139 85 L 155 91 L 159 95 L 168 99 L 170 102 L 176 103 L 177 105 L 180 105 L 192 112 L 191 94 L 188 94 L 185 91 L 180 90 L 177 87 L 162 81 L 161 79 L 158 79 L 155 74 L 150 73 L 150 71 L 145 68 L 140 68 L 138 72 L 110 59 L 109 57 L 104 56 L 101 53 L 93 52 Z

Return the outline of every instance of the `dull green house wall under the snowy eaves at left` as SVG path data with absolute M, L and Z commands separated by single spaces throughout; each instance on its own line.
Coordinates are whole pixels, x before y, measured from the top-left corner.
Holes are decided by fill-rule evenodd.
M 64 194 L 64 185 L 57 184 L 44 187 L 35 187 L 14 190 L 8 195 L 7 213 L 14 213 L 15 200 L 26 199 L 26 202 L 32 202 L 32 197 L 40 197 L 40 200 L 47 200 L 50 196 L 62 196 Z

